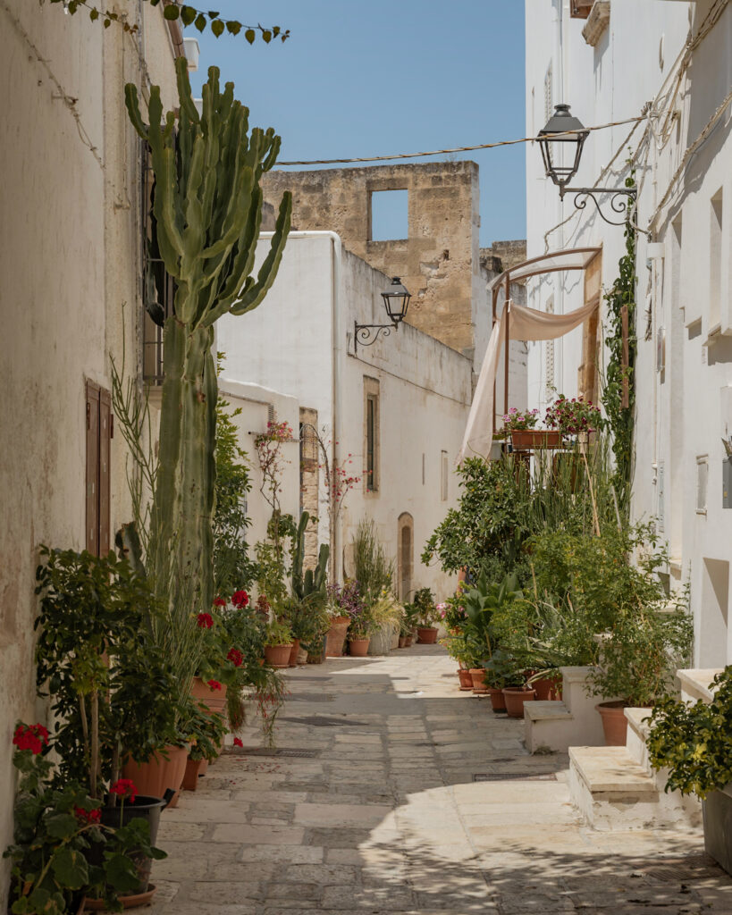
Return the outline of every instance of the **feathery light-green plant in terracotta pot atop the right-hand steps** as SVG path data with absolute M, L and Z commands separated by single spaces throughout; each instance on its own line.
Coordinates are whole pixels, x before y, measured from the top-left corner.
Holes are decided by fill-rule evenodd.
M 684 596 L 670 611 L 658 606 L 619 610 L 600 637 L 599 662 L 588 682 L 591 695 L 622 696 L 597 705 L 608 747 L 625 746 L 626 708 L 649 708 L 673 690 L 673 672 L 684 666 L 693 637 Z

